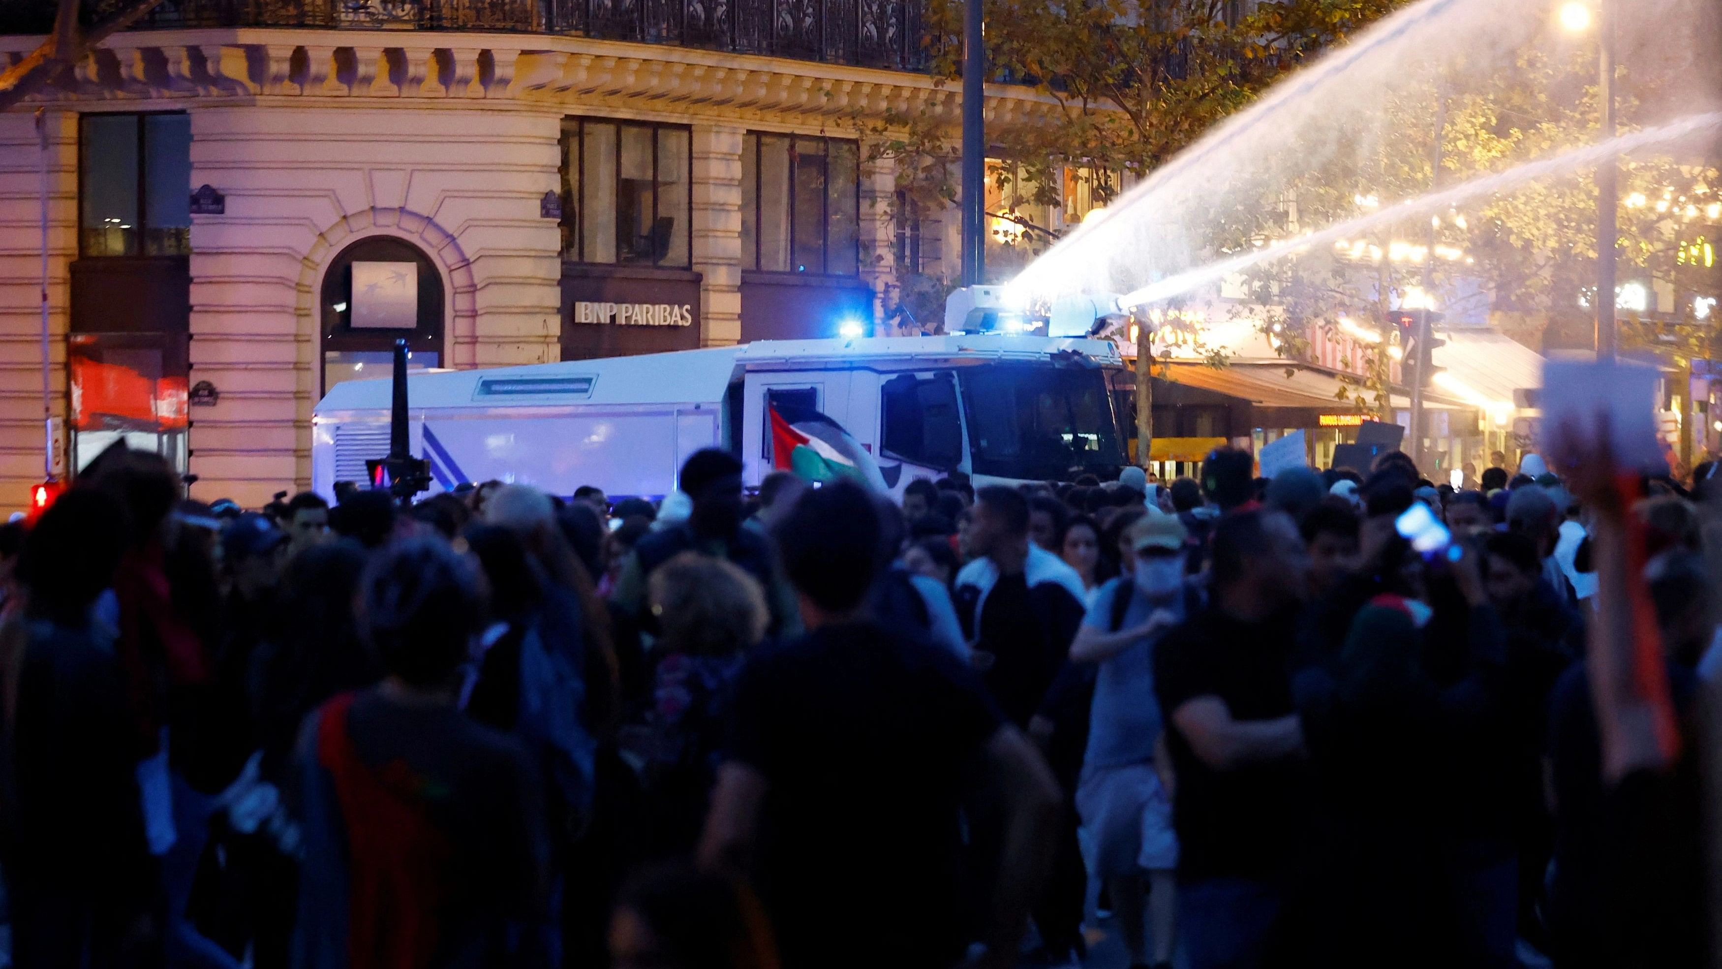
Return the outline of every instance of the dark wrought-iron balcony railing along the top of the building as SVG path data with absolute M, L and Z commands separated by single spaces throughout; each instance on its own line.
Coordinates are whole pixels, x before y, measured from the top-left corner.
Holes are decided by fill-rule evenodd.
M 548 33 L 921 71 L 923 9 L 925 0 L 165 0 L 136 29 Z M 0 33 L 46 33 L 52 17 L 52 3 L 0 3 Z

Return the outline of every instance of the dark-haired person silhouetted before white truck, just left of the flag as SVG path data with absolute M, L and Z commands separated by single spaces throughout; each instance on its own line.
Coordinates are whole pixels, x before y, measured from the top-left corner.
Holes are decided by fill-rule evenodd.
M 616 606 L 644 620 L 646 580 L 660 565 L 694 551 L 735 563 L 765 587 L 773 635 L 801 632 L 796 592 L 778 568 L 771 539 L 742 527 L 746 506 L 740 460 L 718 447 L 696 451 L 682 465 L 677 485 L 689 499 L 687 518 L 673 522 L 666 508 L 660 509 L 658 523 L 663 527 L 642 537 L 622 566 L 613 594 Z

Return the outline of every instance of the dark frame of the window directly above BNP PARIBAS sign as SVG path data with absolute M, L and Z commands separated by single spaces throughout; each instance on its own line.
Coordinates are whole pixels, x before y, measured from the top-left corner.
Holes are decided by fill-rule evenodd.
M 615 143 L 611 146 L 613 151 L 615 151 L 615 164 L 611 165 L 611 169 L 616 170 L 616 172 L 620 172 L 620 167 L 622 167 L 622 129 L 634 127 L 634 129 L 646 129 L 646 131 L 651 133 L 651 172 L 653 172 L 651 174 L 651 184 L 653 184 L 651 225 L 654 225 L 654 227 L 658 225 L 660 219 L 663 219 L 663 207 L 661 207 L 663 194 L 665 194 L 663 193 L 663 186 L 665 184 L 675 184 L 675 182 L 666 182 L 661 177 L 661 174 L 663 174 L 663 164 L 661 164 L 661 155 L 663 155 L 661 145 L 663 145 L 663 139 L 661 139 L 661 133 L 665 133 L 665 131 L 682 133 L 687 138 L 687 169 L 682 172 L 682 179 L 684 179 L 682 184 L 687 186 L 687 191 L 684 193 L 682 212 L 672 215 L 673 219 L 680 219 L 682 220 L 684 234 L 687 238 L 687 241 L 682 246 L 682 253 L 678 253 L 677 258 L 672 258 L 672 253 L 665 251 L 661 256 L 654 255 L 651 260 L 637 260 L 637 258 L 635 260 L 622 260 L 620 253 L 618 253 L 618 258 L 603 262 L 603 260 L 592 258 L 594 253 L 587 253 L 585 251 L 585 231 L 584 231 L 584 225 L 580 224 L 580 217 L 585 212 L 585 207 L 582 205 L 582 196 L 584 196 L 584 188 L 585 188 L 585 127 L 589 124 L 606 124 L 606 126 L 613 126 L 615 127 L 616 138 L 615 138 Z M 560 179 L 560 189 L 558 189 L 558 193 L 561 194 L 561 219 L 560 219 L 558 225 L 561 229 L 561 260 L 563 262 L 582 263 L 582 265 L 610 265 L 610 267 L 692 268 L 692 265 L 694 265 L 694 224 L 692 224 L 694 222 L 694 219 L 692 219 L 694 217 L 694 129 L 692 129 L 692 126 L 689 126 L 689 124 L 668 124 L 668 122 L 656 122 L 656 120 L 634 120 L 634 119 L 622 119 L 622 117 L 601 117 L 601 115 L 568 115 L 568 117 L 561 119 L 560 150 L 561 150 L 561 170 L 558 172 L 558 179 Z M 615 176 L 613 181 L 616 184 L 615 184 L 615 193 L 610 198 L 610 210 L 611 210 L 613 217 L 620 220 L 622 212 L 623 212 L 623 207 L 622 207 L 622 181 L 623 179 L 620 176 Z M 673 232 L 673 229 L 672 229 L 672 232 Z M 673 239 L 673 234 L 672 234 L 672 239 Z M 670 248 L 670 241 L 668 239 L 665 241 L 665 248 L 666 250 Z

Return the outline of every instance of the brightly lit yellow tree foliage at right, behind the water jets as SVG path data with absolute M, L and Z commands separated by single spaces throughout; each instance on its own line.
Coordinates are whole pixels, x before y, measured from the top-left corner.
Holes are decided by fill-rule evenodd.
M 1464 182 L 1595 141 L 1598 91 L 1588 83 L 1595 71 L 1589 57 L 1591 52 L 1572 50 L 1560 60 L 1527 50 L 1503 72 L 1505 83 L 1491 72 L 1457 72 L 1440 76 L 1422 91 L 1412 91 L 1414 96 L 1384 98 L 1381 110 L 1395 138 L 1381 141 L 1360 165 L 1304 174 L 1288 189 L 1297 200 L 1295 219 L 1283 210 L 1269 213 L 1252 229 L 1254 239 L 1235 236 L 1219 246 L 1286 238 L 1300 231 L 1298 220 L 1328 225 L 1415 198 L 1438 182 Z M 1624 72 L 1620 86 L 1626 129 L 1648 124 L 1657 105 L 1670 100 L 1669 76 L 1651 67 Z M 1438 129 L 1440 179 L 1433 170 Z M 1676 291 L 1686 286 L 1676 277 L 1681 246 L 1707 220 L 1719 222 L 1719 177 L 1713 150 L 1651 153 L 1624 164 L 1617 250 L 1622 281 L 1648 279 Z M 1245 275 L 1262 325 L 1285 332 L 1324 329 L 1329 336 L 1345 320 L 1374 327 L 1381 339 L 1364 348 L 1369 356 L 1364 389 L 1378 406 L 1388 396 L 1386 356 L 1400 351 L 1391 339 L 1390 310 L 1412 287 L 1448 294 L 1443 306 L 1448 315 L 1488 312 L 1490 322 L 1534 348 L 1552 320 L 1579 324 L 1581 339 L 1569 336 L 1569 346 L 1589 346 L 1588 299 L 1595 293 L 1596 260 L 1596 188 L 1589 170 L 1534 181 L 1436 219 L 1433 227 L 1424 215 L 1341 239 L 1335 251 L 1254 267 Z M 1691 322 L 1694 306 L 1686 301 L 1681 312 Z M 1645 332 L 1622 325 L 1620 348 L 1670 351 L 1667 339 L 1651 341 Z M 1283 351 L 1304 356 L 1292 339 Z

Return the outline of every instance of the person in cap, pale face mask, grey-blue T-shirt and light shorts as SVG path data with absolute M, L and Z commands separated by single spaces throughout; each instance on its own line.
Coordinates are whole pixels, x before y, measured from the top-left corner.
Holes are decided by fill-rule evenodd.
M 1154 649 L 1202 604 L 1185 578 L 1185 537 L 1173 515 L 1131 525 L 1119 547 L 1126 571 L 1095 590 L 1071 644 L 1073 663 L 1099 666 L 1076 811 L 1092 833 L 1088 869 L 1111 892 L 1131 966 L 1169 966 L 1173 955 L 1178 836 L 1155 768 L 1164 752 Z

